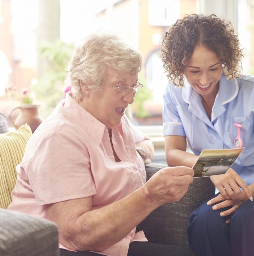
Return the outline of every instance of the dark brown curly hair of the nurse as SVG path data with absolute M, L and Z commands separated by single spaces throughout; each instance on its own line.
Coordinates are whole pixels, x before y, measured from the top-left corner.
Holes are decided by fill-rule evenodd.
M 214 14 L 191 14 L 177 20 L 162 41 L 163 66 L 174 85 L 184 85 L 184 69 L 197 45 L 204 45 L 217 54 L 223 74 L 229 80 L 240 76 L 243 52 L 231 23 Z

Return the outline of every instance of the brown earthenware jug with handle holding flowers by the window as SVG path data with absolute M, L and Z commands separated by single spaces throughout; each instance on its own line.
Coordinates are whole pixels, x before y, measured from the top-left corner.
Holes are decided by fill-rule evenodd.
M 27 123 L 31 127 L 32 132 L 34 132 L 42 123 L 42 117 L 38 113 L 38 107 L 40 107 L 40 105 L 22 104 L 13 108 L 9 114 L 9 119 L 14 125 L 15 129 L 19 129 L 20 126 Z M 21 111 L 16 119 L 13 120 L 11 115 L 16 109 L 20 109 Z

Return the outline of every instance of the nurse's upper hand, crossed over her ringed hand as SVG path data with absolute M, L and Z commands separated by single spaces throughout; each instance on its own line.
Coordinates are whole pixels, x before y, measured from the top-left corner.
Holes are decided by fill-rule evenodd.
M 252 193 L 247 184 L 232 168 L 225 174 L 210 176 L 210 179 L 225 199 L 244 202 L 244 193 L 240 190 L 242 188 L 247 198 L 252 200 Z

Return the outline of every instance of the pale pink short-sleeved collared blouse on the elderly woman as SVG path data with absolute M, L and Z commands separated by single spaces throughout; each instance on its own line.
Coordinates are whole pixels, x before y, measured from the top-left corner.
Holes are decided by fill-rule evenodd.
M 146 182 L 135 144 L 149 138 L 124 116 L 112 129 L 112 143 L 121 160 L 116 162 L 107 127 L 71 96 L 67 93 L 29 139 L 8 209 L 47 218 L 45 204 L 91 195 L 92 209 L 96 209 L 124 198 Z M 132 241 L 147 239 L 134 228 L 101 254 L 126 256 Z

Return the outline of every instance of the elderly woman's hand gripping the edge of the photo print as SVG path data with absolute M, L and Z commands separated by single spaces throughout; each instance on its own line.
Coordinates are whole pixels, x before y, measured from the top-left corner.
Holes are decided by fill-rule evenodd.
M 179 201 L 193 181 L 193 169 L 185 166 L 165 167 L 144 185 L 146 197 L 158 205 Z

